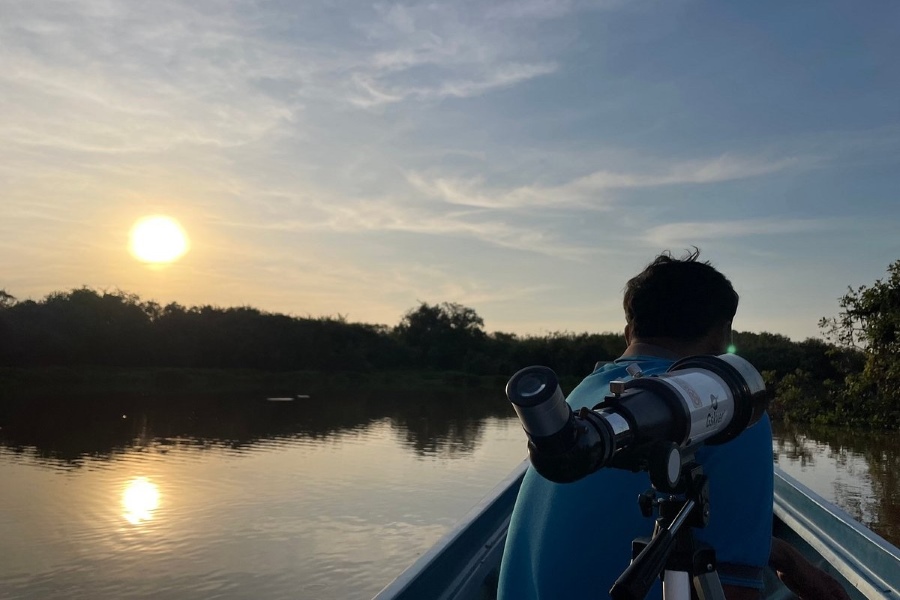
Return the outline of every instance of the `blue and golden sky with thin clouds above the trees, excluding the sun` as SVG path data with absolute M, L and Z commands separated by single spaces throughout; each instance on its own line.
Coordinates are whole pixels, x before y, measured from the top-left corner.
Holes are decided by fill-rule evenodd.
M 621 331 L 696 246 L 819 337 L 900 259 L 900 4 L 0 0 L 0 289 Z M 190 251 L 128 252 L 139 218 Z

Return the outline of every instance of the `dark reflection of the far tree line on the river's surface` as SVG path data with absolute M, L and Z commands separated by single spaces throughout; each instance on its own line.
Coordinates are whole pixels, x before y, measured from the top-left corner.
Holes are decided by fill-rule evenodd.
M 415 454 L 454 457 L 474 452 L 486 419 L 512 414 L 496 391 L 325 393 L 292 402 L 270 402 L 268 396 L 60 393 L 4 398 L 0 446 L 7 455 L 57 469 L 103 468 L 103 462 L 135 450 L 245 452 L 298 439 L 321 441 L 387 421 L 398 443 Z

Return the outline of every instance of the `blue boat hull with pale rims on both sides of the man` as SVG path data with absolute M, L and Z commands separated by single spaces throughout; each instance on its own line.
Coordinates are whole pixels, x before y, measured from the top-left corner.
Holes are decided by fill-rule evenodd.
M 375 600 L 484 600 L 496 597 L 506 530 L 527 461 Z M 840 508 L 775 469 L 775 535 L 835 576 L 854 600 L 900 600 L 900 551 Z M 795 596 L 774 573 L 765 597 Z

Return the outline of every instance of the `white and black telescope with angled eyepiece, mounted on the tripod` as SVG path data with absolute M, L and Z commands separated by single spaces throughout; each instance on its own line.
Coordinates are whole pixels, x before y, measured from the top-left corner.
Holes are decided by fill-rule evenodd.
M 552 369 L 513 375 L 506 395 L 540 475 L 568 483 L 609 466 L 649 471 L 658 490 L 679 491 L 684 460 L 704 444 L 736 438 L 768 404 L 762 376 L 735 354 L 690 356 L 658 375 L 629 372 L 632 379 L 610 382 L 600 403 L 577 412 Z

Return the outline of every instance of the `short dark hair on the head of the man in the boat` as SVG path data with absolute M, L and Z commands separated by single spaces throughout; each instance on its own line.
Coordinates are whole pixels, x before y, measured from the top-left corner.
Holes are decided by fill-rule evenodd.
M 628 281 L 623 305 L 635 337 L 696 340 L 734 319 L 737 292 L 699 256 L 664 252 Z

